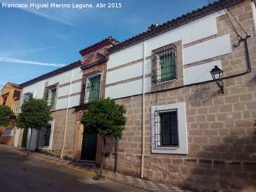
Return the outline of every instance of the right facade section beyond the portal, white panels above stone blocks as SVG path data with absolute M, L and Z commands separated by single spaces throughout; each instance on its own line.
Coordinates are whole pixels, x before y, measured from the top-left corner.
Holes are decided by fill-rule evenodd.
M 108 49 L 105 95 L 128 119 L 118 172 L 195 191 L 256 190 L 254 3 L 215 2 Z M 108 138 L 112 171 L 116 143 Z

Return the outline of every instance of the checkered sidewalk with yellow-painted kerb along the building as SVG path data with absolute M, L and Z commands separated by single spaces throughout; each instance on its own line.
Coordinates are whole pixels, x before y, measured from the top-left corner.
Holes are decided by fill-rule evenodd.
M 27 155 L 27 150 L 21 149 L 21 148 L 16 148 L 16 147 L 13 147 L 10 145 L 5 145 L 5 144 L 0 143 L 0 148 L 10 149 L 17 153 Z M 79 172 L 84 172 L 84 173 L 87 173 L 87 174 L 90 174 L 93 176 L 96 176 L 100 172 L 99 168 L 86 166 L 86 165 L 83 165 L 80 163 L 67 161 L 64 159 L 60 159 L 60 158 L 49 156 L 49 155 L 44 155 L 41 153 L 30 152 L 30 156 L 32 156 L 33 158 L 36 158 L 36 159 L 40 159 L 42 161 L 46 161 L 48 163 L 57 164 L 62 167 L 66 167 L 68 169 L 73 169 L 73 170 L 76 170 Z M 143 179 L 139 179 L 139 178 L 135 178 L 135 177 L 127 176 L 127 175 L 122 175 L 120 173 L 114 173 L 114 172 L 110 172 L 110 171 L 106 171 L 106 170 L 103 170 L 103 175 L 106 176 L 109 180 L 123 183 L 123 184 L 129 185 L 129 186 L 145 189 L 145 190 L 152 191 L 152 192 L 192 192 L 189 190 L 185 190 L 185 189 L 181 189 L 181 188 L 177 188 L 177 187 L 171 187 L 171 186 L 159 184 L 159 183 L 156 183 L 153 181 L 143 180 Z

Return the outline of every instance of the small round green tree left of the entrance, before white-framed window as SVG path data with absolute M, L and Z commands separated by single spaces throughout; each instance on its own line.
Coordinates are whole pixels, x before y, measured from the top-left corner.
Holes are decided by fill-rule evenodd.
M 29 148 L 33 133 L 32 129 L 39 131 L 47 124 L 48 121 L 53 119 L 51 117 L 52 112 L 47 105 L 48 103 L 44 99 L 36 99 L 29 96 L 28 100 L 26 100 L 20 107 L 21 112 L 16 118 L 15 126 L 18 129 L 27 127 L 31 129 L 27 155 L 29 155 Z

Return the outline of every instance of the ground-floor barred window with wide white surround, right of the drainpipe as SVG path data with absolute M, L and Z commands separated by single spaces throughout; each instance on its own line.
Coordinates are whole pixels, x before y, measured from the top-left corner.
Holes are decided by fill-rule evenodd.
M 188 154 L 185 102 L 151 107 L 152 153 Z

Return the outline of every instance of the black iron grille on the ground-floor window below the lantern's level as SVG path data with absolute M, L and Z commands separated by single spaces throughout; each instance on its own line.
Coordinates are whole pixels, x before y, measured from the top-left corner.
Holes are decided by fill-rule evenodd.
M 155 147 L 179 147 L 178 109 L 155 111 Z

